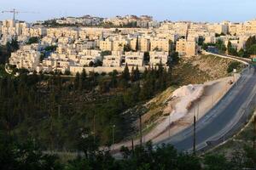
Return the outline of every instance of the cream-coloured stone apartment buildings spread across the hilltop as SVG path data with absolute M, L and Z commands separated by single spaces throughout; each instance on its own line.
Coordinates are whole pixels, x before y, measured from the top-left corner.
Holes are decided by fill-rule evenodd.
M 109 19 L 86 15 L 33 24 L 3 20 L 0 26 L 1 44 L 16 39 L 20 45 L 20 49 L 11 54 L 9 65 L 28 71 L 61 71 L 72 75 L 83 70 L 120 72 L 125 64 L 138 66 L 143 71 L 160 62 L 167 65 L 173 52 L 184 57 L 200 54 L 203 43 L 220 42 L 243 55 L 248 37 L 256 34 L 256 20 L 158 22 L 146 15 Z

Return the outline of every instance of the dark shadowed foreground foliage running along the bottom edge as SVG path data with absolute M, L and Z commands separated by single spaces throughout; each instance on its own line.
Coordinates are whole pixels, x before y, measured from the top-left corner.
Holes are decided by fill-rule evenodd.
M 79 146 L 83 152 L 69 161 L 43 153 L 36 141 L 17 143 L 0 136 L 0 168 L 7 170 L 241 170 L 256 167 L 256 151 L 244 146 L 243 152 L 234 151 L 229 157 L 221 154 L 202 156 L 179 153 L 172 145 L 153 147 L 149 142 L 129 150 L 121 149 L 122 159 L 114 159 L 111 150 L 98 150 L 88 144 L 87 137 Z

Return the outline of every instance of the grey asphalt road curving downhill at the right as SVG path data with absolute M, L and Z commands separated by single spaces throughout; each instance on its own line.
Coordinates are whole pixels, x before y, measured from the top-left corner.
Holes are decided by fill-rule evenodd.
M 248 104 L 256 94 L 256 71 L 247 68 L 240 80 L 212 110 L 196 122 L 196 150 L 206 150 L 236 133 L 245 123 Z M 177 150 L 193 149 L 193 126 L 158 144 L 173 144 Z

